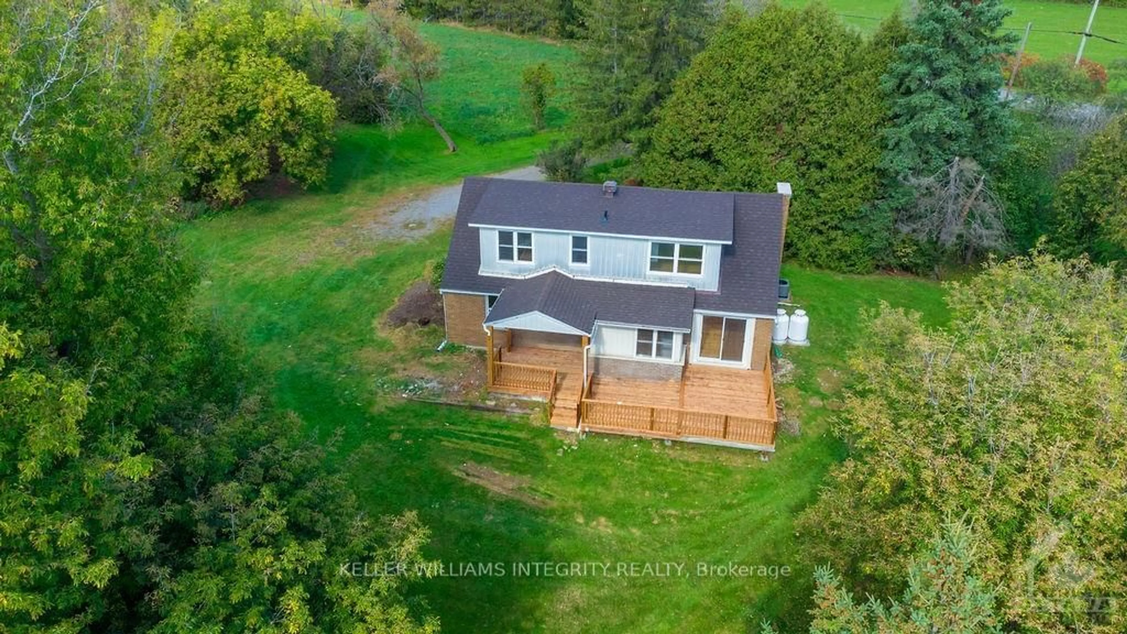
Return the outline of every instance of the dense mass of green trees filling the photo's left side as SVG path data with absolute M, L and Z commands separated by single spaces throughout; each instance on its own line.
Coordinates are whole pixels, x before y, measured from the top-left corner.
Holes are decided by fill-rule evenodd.
M 326 59 L 303 35 L 322 26 L 0 0 L 0 629 L 437 629 L 407 591 L 426 529 L 362 512 L 335 443 L 194 309 L 175 236 L 185 183 L 323 174 L 338 85 L 294 71 Z

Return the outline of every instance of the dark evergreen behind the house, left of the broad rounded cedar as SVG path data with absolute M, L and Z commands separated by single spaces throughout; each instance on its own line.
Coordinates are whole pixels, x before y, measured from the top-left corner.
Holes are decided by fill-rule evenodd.
M 588 147 L 640 140 L 716 23 L 712 0 L 580 0 L 578 125 Z

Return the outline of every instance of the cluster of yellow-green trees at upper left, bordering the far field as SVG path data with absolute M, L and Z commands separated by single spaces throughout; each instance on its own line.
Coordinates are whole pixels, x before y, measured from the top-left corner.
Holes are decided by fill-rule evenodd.
M 187 201 L 238 204 L 250 184 L 275 174 L 303 187 L 325 183 L 338 120 L 419 116 L 458 149 L 427 107 L 437 49 L 396 0 L 360 16 L 319 1 L 99 7 L 143 25 L 144 41 L 128 44 L 147 47 L 145 125 L 166 133 Z

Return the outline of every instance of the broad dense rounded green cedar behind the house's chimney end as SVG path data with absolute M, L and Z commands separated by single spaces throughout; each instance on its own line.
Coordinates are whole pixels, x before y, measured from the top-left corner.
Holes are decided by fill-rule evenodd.
M 733 10 L 660 108 L 645 183 L 773 192 L 788 180 L 788 253 L 870 270 L 891 230 L 868 204 L 887 116 L 877 81 L 897 25 L 866 43 L 820 6 Z

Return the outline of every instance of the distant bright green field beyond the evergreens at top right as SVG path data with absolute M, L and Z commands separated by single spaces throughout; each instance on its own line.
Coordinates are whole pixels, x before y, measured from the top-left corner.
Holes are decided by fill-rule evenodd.
M 805 6 L 811 0 L 780 0 L 786 6 Z M 863 32 L 877 27 L 881 18 L 900 8 L 905 14 L 906 3 L 903 0 L 822 0 L 842 19 Z M 1071 33 L 1080 32 L 1088 24 L 1091 2 L 1074 5 L 1070 2 L 1046 2 L 1032 0 L 1009 0 L 1006 2 L 1013 14 L 1005 20 L 1009 28 L 1021 35 L 1026 24 L 1033 23 L 1033 33 L 1029 35 L 1028 51 L 1041 58 L 1061 55 L 1075 56 L 1080 46 L 1080 36 Z M 1100 7 L 1092 25 L 1092 33 L 1127 42 L 1127 9 Z M 1127 59 L 1127 44 L 1113 44 L 1102 39 L 1091 38 L 1084 49 L 1084 56 L 1108 64 L 1112 60 Z

